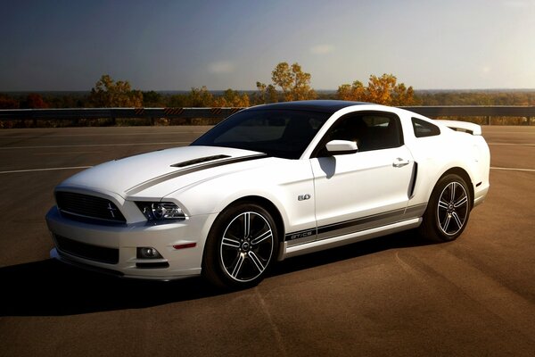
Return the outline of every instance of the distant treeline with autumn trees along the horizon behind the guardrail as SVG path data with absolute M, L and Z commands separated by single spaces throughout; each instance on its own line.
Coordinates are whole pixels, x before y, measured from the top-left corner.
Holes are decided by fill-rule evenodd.
M 534 90 L 435 90 L 416 91 L 399 83 L 392 75 L 370 75 L 367 83 L 354 80 L 333 91 L 317 91 L 310 87 L 310 73 L 300 64 L 280 62 L 271 72 L 271 83 L 256 82 L 257 90 L 226 89 L 210 91 L 207 87 L 193 87 L 186 92 L 157 92 L 133 89 L 128 80 L 115 81 L 107 74 L 89 92 L 0 93 L 0 109 L 39 108 L 187 108 L 187 107 L 248 107 L 257 104 L 289 102 L 307 99 L 340 99 L 392 106 L 411 105 L 535 105 Z M 487 118 L 452 118 L 478 123 Z M 125 119 L 125 125 L 146 125 L 143 120 Z M 204 118 L 203 120 L 206 120 Z M 502 124 L 523 124 L 527 118 L 496 118 Z M 158 125 L 173 125 L 172 120 L 160 119 Z M 202 121 L 204 122 L 204 121 Z M 209 123 L 209 122 L 206 122 Z M 60 120 L 1 121 L 0 128 L 37 125 L 118 125 L 118 121 Z

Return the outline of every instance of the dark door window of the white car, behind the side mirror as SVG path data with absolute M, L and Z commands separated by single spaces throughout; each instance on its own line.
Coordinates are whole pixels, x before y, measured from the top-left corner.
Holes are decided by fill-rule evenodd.
M 399 118 L 390 113 L 350 114 L 338 120 L 325 134 L 317 156 L 328 156 L 325 145 L 331 140 L 357 143 L 358 152 L 389 149 L 403 145 Z

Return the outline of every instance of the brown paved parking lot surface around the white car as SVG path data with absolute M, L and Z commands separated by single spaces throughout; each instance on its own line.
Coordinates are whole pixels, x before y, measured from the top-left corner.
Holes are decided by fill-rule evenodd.
M 0 130 L 0 356 L 533 355 L 535 127 L 483 128 L 490 194 L 455 242 L 377 238 L 288 259 L 226 294 L 49 259 L 55 185 L 206 129 Z

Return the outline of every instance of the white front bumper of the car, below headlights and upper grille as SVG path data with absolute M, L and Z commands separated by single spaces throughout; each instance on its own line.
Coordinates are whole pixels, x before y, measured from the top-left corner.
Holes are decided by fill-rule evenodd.
M 204 243 L 216 216 L 198 215 L 160 225 L 104 226 L 66 219 L 53 207 L 46 223 L 55 259 L 124 278 L 170 280 L 201 274 Z M 175 249 L 173 245 L 189 247 Z M 155 248 L 162 259 L 139 259 L 138 247 Z

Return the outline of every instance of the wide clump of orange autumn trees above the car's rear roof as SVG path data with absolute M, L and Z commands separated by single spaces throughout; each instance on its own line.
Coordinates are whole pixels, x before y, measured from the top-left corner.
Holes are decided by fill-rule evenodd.
M 368 86 L 356 80 L 353 84 L 342 84 L 336 92 L 338 99 L 362 101 L 384 105 L 411 105 L 415 103 L 413 87 L 398 84 L 398 79 L 392 74 L 383 74 L 381 77 L 370 76 Z

